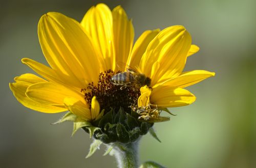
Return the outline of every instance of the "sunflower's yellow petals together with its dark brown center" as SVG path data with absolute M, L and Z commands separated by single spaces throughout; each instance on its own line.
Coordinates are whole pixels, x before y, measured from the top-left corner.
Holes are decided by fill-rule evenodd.
M 70 111 L 97 126 L 109 111 L 117 115 L 120 107 L 127 114 L 131 109 L 139 114 L 144 108 L 149 114 L 157 112 L 154 118 L 158 118 L 158 109 L 191 104 L 196 97 L 183 88 L 215 75 L 204 70 L 182 72 L 187 57 L 199 47 L 191 44 L 190 34 L 181 25 L 145 31 L 133 45 L 133 24 L 120 6 L 111 11 L 98 4 L 80 23 L 49 12 L 39 20 L 38 37 L 49 66 L 22 59 L 40 77 L 30 73 L 15 77 L 10 83 L 14 96 L 33 110 Z M 150 85 L 124 89 L 114 85 L 111 78 L 126 71 L 118 62 L 150 78 Z

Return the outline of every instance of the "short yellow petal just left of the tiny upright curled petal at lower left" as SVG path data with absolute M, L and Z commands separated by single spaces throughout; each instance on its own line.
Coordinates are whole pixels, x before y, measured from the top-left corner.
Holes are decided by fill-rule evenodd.
M 63 103 L 65 104 L 66 108 L 74 115 L 86 121 L 92 120 L 90 108 L 87 104 L 84 104 L 83 102 L 74 97 L 66 97 L 63 100 Z

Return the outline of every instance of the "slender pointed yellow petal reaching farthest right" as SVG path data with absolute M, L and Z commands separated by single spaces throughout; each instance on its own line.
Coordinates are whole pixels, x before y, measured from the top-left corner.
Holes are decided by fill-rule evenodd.
M 194 85 L 211 76 L 215 76 L 215 73 L 205 71 L 205 70 L 187 71 L 187 72 L 181 73 L 180 76 L 177 76 L 175 78 L 170 78 L 164 81 L 163 83 L 161 83 L 161 85 L 185 88 L 185 87 Z

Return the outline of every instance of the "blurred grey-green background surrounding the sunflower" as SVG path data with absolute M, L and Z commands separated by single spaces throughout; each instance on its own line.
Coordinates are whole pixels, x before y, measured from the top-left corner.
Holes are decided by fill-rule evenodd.
M 32 72 L 20 62 L 45 63 L 37 38 L 41 15 L 57 11 L 81 20 L 93 5 L 121 5 L 133 19 L 135 38 L 145 30 L 181 24 L 200 46 L 185 70 L 216 76 L 188 88 L 194 104 L 172 108 L 177 116 L 155 124 L 162 143 L 140 142 L 140 160 L 166 167 L 256 167 L 256 1 L 67 1 L 0 2 L 0 167 L 115 167 L 101 147 L 85 159 L 91 139 L 72 123 L 51 125 L 62 114 L 43 114 L 19 104 L 8 83 Z

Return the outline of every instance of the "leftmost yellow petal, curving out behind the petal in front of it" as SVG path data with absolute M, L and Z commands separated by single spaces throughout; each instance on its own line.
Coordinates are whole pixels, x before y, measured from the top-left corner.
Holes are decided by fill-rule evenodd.
M 15 77 L 14 80 L 16 82 L 10 83 L 10 89 L 16 99 L 24 106 L 43 113 L 59 113 L 62 111 L 67 111 L 66 108 L 60 108 L 35 102 L 26 96 L 25 93 L 30 85 L 38 82 L 46 82 L 46 80 L 29 73 Z

